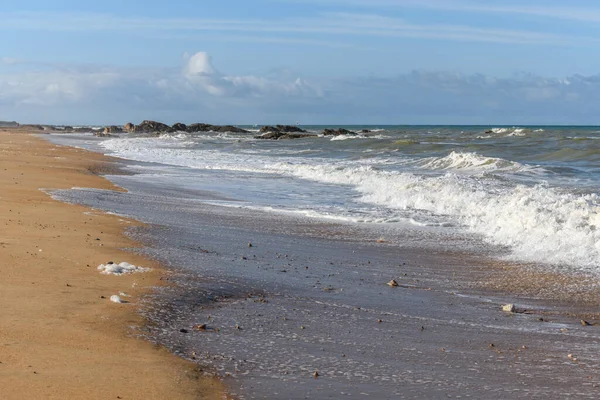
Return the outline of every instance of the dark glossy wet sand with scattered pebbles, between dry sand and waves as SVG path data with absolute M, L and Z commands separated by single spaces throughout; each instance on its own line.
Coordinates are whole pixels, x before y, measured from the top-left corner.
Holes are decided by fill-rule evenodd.
M 57 196 L 151 224 L 131 234 L 176 285 L 147 303 L 145 334 L 239 398 L 597 397 L 600 327 L 580 323 L 594 298 L 561 296 L 561 282 L 577 277 L 536 281 L 541 273 L 457 253 L 444 237 L 379 240 L 380 226 L 219 207 L 208 192 L 111 179 L 129 191 Z M 552 282 L 545 296 L 533 290 Z

